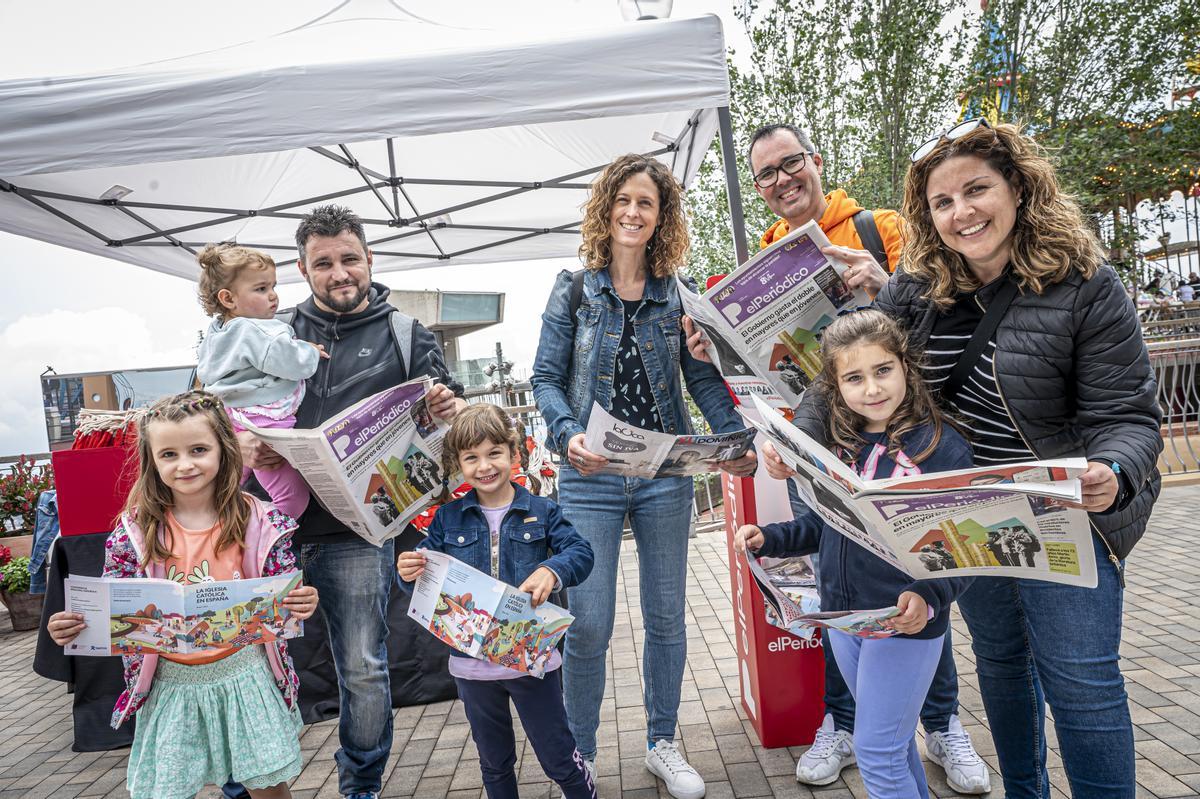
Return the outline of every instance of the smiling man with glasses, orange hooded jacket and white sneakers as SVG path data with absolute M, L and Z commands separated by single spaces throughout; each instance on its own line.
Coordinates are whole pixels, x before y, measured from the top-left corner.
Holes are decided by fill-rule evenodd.
M 852 289 L 860 287 L 872 298 L 883 288 L 888 272 L 900 259 L 900 216 L 895 211 L 868 211 L 841 188 L 827 194 L 821 185 L 821 155 L 808 134 L 793 125 L 766 125 L 754 132 L 750 137 L 750 169 L 758 194 L 780 217 L 762 234 L 763 248 L 816 220 L 835 248 L 866 250 L 876 260 L 874 269 L 847 270 L 844 275 L 846 286 Z M 791 481 L 787 489 L 793 513 L 803 516 L 811 512 Z M 816 558 L 814 565 L 817 565 Z M 808 785 L 829 785 L 854 762 L 854 699 L 838 671 L 828 641 L 822 643 L 826 656 L 826 717 L 812 746 L 796 765 L 796 779 Z M 946 770 L 952 788 L 959 793 L 986 793 L 991 789 L 988 767 L 959 721 L 958 696 L 959 677 L 947 631 L 942 659 L 920 711 L 925 749 L 930 759 Z

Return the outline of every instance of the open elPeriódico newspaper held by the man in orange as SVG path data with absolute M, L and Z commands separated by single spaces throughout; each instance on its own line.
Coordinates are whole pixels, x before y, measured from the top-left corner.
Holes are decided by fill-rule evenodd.
M 743 403 L 761 396 L 790 414 L 821 371 L 821 331 L 870 305 L 865 292 L 846 288 L 846 265 L 821 252 L 828 246 L 809 222 L 703 295 L 680 284 L 684 312 L 707 335 L 709 356 Z

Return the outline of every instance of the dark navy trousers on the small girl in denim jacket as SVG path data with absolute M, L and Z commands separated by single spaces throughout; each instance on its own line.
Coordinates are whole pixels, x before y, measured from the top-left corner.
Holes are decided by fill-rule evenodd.
M 517 708 L 521 726 L 533 744 L 541 770 L 563 789 L 564 799 L 595 799 L 592 776 L 575 747 L 563 711 L 562 669 L 545 678 L 518 677 L 514 680 L 464 680 L 455 678 L 470 735 L 479 750 L 487 799 L 518 799 L 516 738 L 512 711 Z

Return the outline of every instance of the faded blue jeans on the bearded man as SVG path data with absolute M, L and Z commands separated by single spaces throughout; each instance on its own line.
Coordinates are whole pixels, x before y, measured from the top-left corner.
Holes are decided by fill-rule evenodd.
M 366 541 L 306 543 L 305 582 L 320 595 L 341 699 L 337 787 L 343 794 L 383 787 L 391 751 L 388 678 L 388 595 L 396 579 L 395 547 Z

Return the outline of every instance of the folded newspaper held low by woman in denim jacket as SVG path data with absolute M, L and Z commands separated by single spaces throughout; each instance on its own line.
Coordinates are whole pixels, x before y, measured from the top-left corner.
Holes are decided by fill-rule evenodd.
M 600 403 L 593 403 L 583 446 L 608 458 L 604 474 L 626 477 L 683 477 L 704 474 L 721 461 L 733 461 L 750 451 L 755 431 L 744 428 L 710 435 L 672 435 L 634 427 L 620 421 Z

